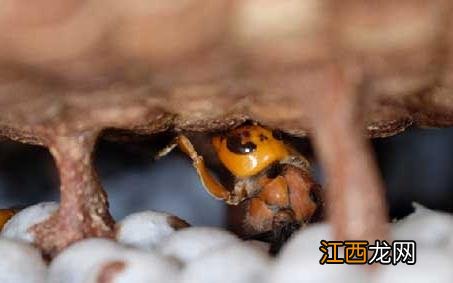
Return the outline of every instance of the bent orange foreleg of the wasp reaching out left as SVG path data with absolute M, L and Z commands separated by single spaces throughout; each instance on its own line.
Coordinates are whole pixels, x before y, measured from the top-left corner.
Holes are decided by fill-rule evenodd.
M 203 156 L 198 155 L 192 143 L 186 136 L 177 136 L 175 144 L 178 145 L 182 152 L 187 154 L 190 159 L 192 159 L 193 166 L 197 170 L 197 174 L 200 177 L 203 187 L 211 196 L 232 205 L 237 205 L 245 199 L 245 196 L 236 196 L 234 193 L 228 191 L 214 178 L 214 176 L 211 175 L 209 170 L 206 168 Z

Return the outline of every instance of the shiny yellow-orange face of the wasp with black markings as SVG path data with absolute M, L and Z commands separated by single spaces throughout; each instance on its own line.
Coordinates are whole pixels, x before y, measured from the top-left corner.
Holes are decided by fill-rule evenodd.
M 223 165 L 240 178 L 256 175 L 290 154 L 272 131 L 259 125 L 240 126 L 214 136 L 212 144 Z

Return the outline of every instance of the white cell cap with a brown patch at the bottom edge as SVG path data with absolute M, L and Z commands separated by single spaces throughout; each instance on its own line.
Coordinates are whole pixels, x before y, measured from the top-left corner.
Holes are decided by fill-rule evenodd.
M 179 264 L 157 253 L 128 248 L 108 239 L 87 239 L 63 250 L 50 264 L 49 283 L 171 282 Z

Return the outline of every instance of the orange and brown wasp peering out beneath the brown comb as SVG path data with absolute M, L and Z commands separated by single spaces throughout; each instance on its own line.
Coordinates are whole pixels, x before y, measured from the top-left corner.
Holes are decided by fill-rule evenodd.
M 184 134 L 177 135 L 159 157 L 179 147 L 192 160 L 211 196 L 229 205 L 245 203 L 244 229 L 249 238 L 284 242 L 293 231 L 320 217 L 323 198 L 310 164 L 284 141 L 281 132 L 250 123 L 214 133 L 210 143 L 234 177 L 231 188 L 211 173 Z

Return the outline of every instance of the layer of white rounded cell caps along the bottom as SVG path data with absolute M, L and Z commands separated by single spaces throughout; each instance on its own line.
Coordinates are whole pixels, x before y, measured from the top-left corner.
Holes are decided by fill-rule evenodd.
M 153 211 L 123 219 L 117 225 L 116 241 L 81 240 L 46 265 L 39 250 L 24 242 L 27 232 L 17 228 L 42 220 L 54 206 L 28 207 L 6 224 L 0 238 L 0 252 L 5 256 L 0 262 L 1 282 L 451 282 L 453 217 L 417 204 L 414 213 L 390 224 L 393 237 L 417 242 L 416 255 L 410 258 L 416 258 L 416 265 L 398 262 L 375 272 L 357 265 L 319 264 L 320 239 L 333 236 L 327 223 L 296 232 L 279 256 L 271 257 L 262 242 L 243 241 L 218 228 L 181 226 L 183 220 Z M 343 252 L 340 247 L 339 253 Z M 370 260 L 375 256 L 371 253 Z

